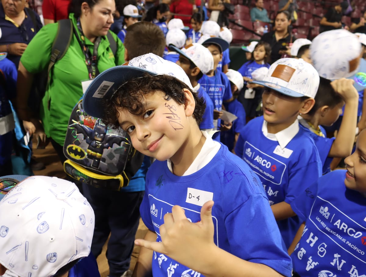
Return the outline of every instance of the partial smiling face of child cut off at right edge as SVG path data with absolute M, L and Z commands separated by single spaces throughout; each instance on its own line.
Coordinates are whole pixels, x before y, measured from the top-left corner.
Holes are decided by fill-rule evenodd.
M 366 130 L 362 130 L 356 142 L 356 151 L 344 159 L 346 163 L 346 179 L 348 189 L 366 193 Z

